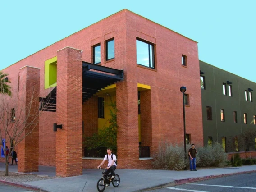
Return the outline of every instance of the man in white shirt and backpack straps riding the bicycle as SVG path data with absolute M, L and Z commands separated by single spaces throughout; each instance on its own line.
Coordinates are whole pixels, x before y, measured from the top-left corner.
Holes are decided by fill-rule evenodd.
M 108 148 L 107 149 L 107 155 L 105 155 L 105 157 L 104 157 L 104 160 L 101 162 L 101 164 L 97 167 L 98 169 L 101 167 L 101 165 L 103 165 L 104 164 L 104 162 L 106 161 L 106 160 L 108 160 L 109 162 L 108 162 L 108 166 L 107 166 L 107 168 L 105 169 L 105 171 L 104 171 L 104 175 L 105 176 L 107 176 L 110 172 L 111 172 L 111 174 L 112 174 L 112 178 L 114 178 L 115 177 L 115 172 L 114 172 L 114 170 L 116 169 L 116 163 L 115 163 L 115 161 L 116 161 L 116 156 L 114 155 L 114 154 L 112 154 L 112 149 L 111 148 Z M 109 186 L 109 183 L 106 183 L 106 187 L 108 187 Z

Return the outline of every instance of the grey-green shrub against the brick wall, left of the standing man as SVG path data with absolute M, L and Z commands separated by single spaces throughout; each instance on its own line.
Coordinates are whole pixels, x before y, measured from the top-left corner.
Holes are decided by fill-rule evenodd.
M 182 170 L 187 166 L 188 160 L 184 158 L 183 147 L 178 144 L 173 146 L 169 143 L 161 143 L 152 164 L 155 169 Z

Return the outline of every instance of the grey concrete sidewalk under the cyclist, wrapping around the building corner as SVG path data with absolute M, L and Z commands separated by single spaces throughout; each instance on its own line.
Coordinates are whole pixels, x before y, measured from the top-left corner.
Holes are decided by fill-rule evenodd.
M 0 163 L 0 170 L 5 171 L 5 165 Z M 17 166 L 10 166 L 9 172 L 17 172 Z M 198 171 L 166 171 L 166 170 L 135 170 L 117 169 L 120 176 L 119 187 L 111 184 L 105 192 L 136 192 L 146 189 L 174 186 L 207 178 L 225 175 L 256 172 L 256 165 L 242 167 L 227 167 L 215 169 L 201 169 Z M 28 173 L 30 174 L 30 173 Z M 39 172 L 31 174 L 55 176 L 55 167 L 39 166 Z M 101 178 L 98 169 L 83 169 L 82 175 L 67 178 L 18 183 L 27 187 L 41 189 L 45 192 L 96 192 L 96 183 Z M 0 181 L 1 183 L 2 181 Z M 17 186 L 17 183 L 13 183 Z

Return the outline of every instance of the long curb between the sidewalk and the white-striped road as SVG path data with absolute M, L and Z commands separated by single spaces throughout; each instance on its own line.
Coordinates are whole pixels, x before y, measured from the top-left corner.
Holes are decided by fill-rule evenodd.
M 231 176 L 231 175 L 235 175 L 235 174 L 249 174 L 249 173 L 255 173 L 255 172 L 256 172 L 256 170 L 243 171 L 243 172 L 232 173 L 232 174 L 218 174 L 218 175 L 210 175 L 210 176 L 196 177 L 196 178 L 185 178 L 185 179 L 174 180 L 174 181 L 169 182 L 169 183 L 156 185 L 156 186 L 153 186 L 153 187 L 147 187 L 147 188 L 140 189 L 140 190 L 133 191 L 133 192 L 150 191 L 150 190 L 155 190 L 155 189 L 160 189 L 160 188 L 165 188 L 165 187 L 170 187 L 170 186 L 182 185 L 182 184 L 185 184 L 185 183 L 207 180 L 207 179 L 211 179 L 211 178 L 226 177 L 226 176 Z

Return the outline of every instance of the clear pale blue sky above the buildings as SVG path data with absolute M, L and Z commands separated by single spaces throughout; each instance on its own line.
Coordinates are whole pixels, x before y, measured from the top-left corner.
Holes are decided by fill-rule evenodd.
M 199 59 L 256 82 L 256 0 L 0 2 L 0 70 L 122 9 L 198 42 Z

